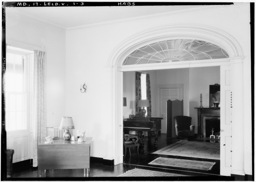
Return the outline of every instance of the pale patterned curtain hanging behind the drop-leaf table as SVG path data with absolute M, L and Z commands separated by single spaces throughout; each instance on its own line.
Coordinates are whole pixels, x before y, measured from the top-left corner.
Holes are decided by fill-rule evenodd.
M 34 51 L 33 167 L 38 166 L 37 145 L 46 137 L 45 55 L 43 51 Z

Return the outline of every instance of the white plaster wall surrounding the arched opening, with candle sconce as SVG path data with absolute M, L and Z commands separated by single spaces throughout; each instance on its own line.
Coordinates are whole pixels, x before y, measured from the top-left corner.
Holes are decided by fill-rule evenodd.
M 113 151 L 113 148 L 107 149 L 105 145 L 105 134 L 116 127 L 113 126 L 112 115 L 114 109 L 111 99 L 112 75 L 108 73 L 106 66 L 108 58 L 117 45 L 135 34 L 156 27 L 184 23 L 203 24 L 228 32 L 241 44 L 244 55 L 250 57 L 250 50 L 247 49 L 250 35 L 241 34 L 244 31 L 250 32 L 250 19 L 247 19 L 249 8 L 249 4 L 239 7 L 227 5 L 205 12 L 68 31 L 66 33 L 66 115 L 74 117 L 77 128 L 88 129 L 87 135 L 93 137 L 92 156 L 104 157 L 106 153 L 111 153 L 110 150 Z M 247 63 L 249 60 L 245 61 L 247 70 L 250 70 Z M 86 94 L 79 93 L 80 85 L 84 82 L 87 83 L 88 88 Z M 107 103 L 107 107 L 100 106 L 101 103 Z M 251 123 L 250 120 L 248 122 Z M 251 159 L 250 156 L 246 158 Z

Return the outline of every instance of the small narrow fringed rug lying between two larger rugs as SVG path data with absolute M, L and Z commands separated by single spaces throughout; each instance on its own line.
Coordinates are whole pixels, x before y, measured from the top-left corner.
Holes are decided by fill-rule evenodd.
M 212 169 L 212 166 L 215 164 L 215 162 L 158 157 L 148 164 L 209 171 Z

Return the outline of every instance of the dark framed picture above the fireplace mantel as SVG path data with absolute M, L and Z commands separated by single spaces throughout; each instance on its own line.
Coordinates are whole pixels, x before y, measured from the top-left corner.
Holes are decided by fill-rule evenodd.
M 209 107 L 219 107 L 220 104 L 220 85 L 218 83 L 210 85 Z

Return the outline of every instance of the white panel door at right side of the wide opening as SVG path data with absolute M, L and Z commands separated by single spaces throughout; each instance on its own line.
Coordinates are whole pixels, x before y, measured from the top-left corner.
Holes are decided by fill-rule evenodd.
M 220 66 L 220 175 L 231 174 L 231 71 Z

